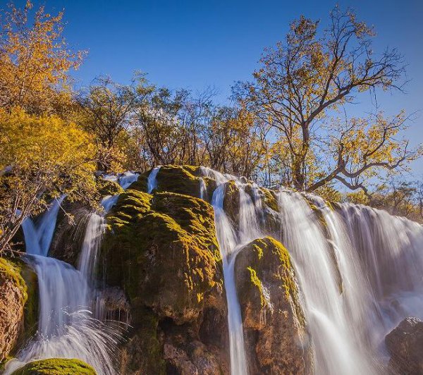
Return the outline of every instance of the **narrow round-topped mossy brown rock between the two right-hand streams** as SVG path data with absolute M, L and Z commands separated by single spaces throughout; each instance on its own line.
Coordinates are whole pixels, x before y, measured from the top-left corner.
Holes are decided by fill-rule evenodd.
M 235 260 L 251 374 L 310 374 L 305 317 L 288 251 L 274 238 L 243 247 Z

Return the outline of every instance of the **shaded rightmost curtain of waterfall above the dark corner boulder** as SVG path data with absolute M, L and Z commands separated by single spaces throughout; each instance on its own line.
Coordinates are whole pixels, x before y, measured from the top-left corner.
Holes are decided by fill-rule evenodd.
M 372 297 L 369 340 L 383 343 L 406 316 L 423 319 L 423 226 L 362 205 L 341 205 L 341 216 Z

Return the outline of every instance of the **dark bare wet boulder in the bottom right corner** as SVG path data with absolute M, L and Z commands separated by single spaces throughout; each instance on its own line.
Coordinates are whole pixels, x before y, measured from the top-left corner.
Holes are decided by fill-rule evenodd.
M 406 318 L 385 337 L 390 366 L 398 374 L 423 374 L 423 321 Z

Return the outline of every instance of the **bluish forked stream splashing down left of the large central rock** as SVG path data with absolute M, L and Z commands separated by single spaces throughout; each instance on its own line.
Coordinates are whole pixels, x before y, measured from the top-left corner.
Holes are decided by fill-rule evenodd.
M 137 173 L 124 173 L 119 179 L 128 187 Z M 35 338 L 6 364 L 5 374 L 11 374 L 23 364 L 51 357 L 78 358 L 91 364 L 99 375 L 115 374 L 114 348 L 121 339 L 116 327 L 96 319 L 92 312 L 99 297 L 95 287 L 99 249 L 104 234 L 105 219 L 96 212 L 90 214 L 85 229 L 78 269 L 59 259 L 48 257 L 56 226 L 56 218 L 64 197 L 56 199 L 39 217 L 23 222 L 25 258 L 37 273 L 39 285 L 39 320 Z M 116 204 L 118 195 L 102 200 L 104 212 Z

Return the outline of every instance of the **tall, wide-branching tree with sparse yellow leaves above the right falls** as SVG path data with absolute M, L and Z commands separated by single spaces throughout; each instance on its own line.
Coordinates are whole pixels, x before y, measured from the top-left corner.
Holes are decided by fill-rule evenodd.
M 319 22 L 301 17 L 284 42 L 265 51 L 253 82 L 235 87 L 235 96 L 283 139 L 288 153 L 283 159 L 298 190 L 314 191 L 333 181 L 365 189 L 362 178 L 403 166 L 421 153 L 394 140 L 405 126 L 403 113 L 391 120 L 381 113 L 353 118 L 343 126 L 336 120 L 362 92 L 401 88 L 402 56 L 395 49 L 374 54 L 372 37 L 374 31 L 349 10 L 334 8 L 322 35 Z M 329 167 L 320 168 L 325 164 Z

